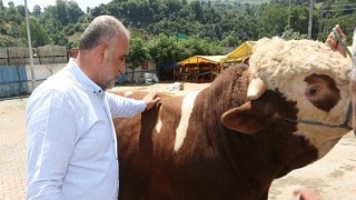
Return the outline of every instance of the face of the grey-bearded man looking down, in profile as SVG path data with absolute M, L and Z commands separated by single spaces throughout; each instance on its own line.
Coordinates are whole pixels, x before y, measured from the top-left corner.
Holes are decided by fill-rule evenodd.
M 120 36 L 116 44 L 109 44 L 109 53 L 103 69 L 102 89 L 111 89 L 118 77 L 125 73 L 126 58 L 129 51 L 129 41 L 126 36 Z

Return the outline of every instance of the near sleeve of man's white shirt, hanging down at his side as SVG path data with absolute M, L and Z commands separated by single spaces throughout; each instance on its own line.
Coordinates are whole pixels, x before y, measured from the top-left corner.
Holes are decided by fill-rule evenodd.
M 73 108 L 62 92 L 30 98 L 27 199 L 63 199 L 62 182 L 76 143 L 75 121 Z

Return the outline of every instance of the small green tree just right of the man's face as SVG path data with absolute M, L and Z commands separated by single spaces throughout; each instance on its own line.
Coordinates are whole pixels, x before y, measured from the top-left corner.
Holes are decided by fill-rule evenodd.
M 128 68 L 132 70 L 132 81 L 135 71 L 139 68 L 144 62 L 149 61 L 150 54 L 147 48 L 147 44 L 144 42 L 141 38 L 131 38 L 130 39 L 130 51 L 127 58 Z

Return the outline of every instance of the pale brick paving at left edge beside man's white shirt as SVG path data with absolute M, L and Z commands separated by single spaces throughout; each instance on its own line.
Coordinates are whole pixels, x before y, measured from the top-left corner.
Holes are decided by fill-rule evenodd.
M 26 198 L 26 102 L 0 101 L 0 200 Z

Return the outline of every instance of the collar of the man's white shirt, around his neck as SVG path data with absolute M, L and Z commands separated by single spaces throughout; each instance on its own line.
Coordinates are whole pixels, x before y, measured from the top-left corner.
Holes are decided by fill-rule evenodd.
M 92 93 L 95 93 L 97 96 L 103 94 L 103 90 L 97 83 L 95 83 L 92 80 L 90 80 L 85 72 L 81 71 L 79 66 L 76 63 L 75 59 L 72 59 L 72 58 L 69 59 L 68 69 L 69 69 L 69 71 L 71 71 L 75 74 L 78 82 L 82 87 L 90 90 Z

